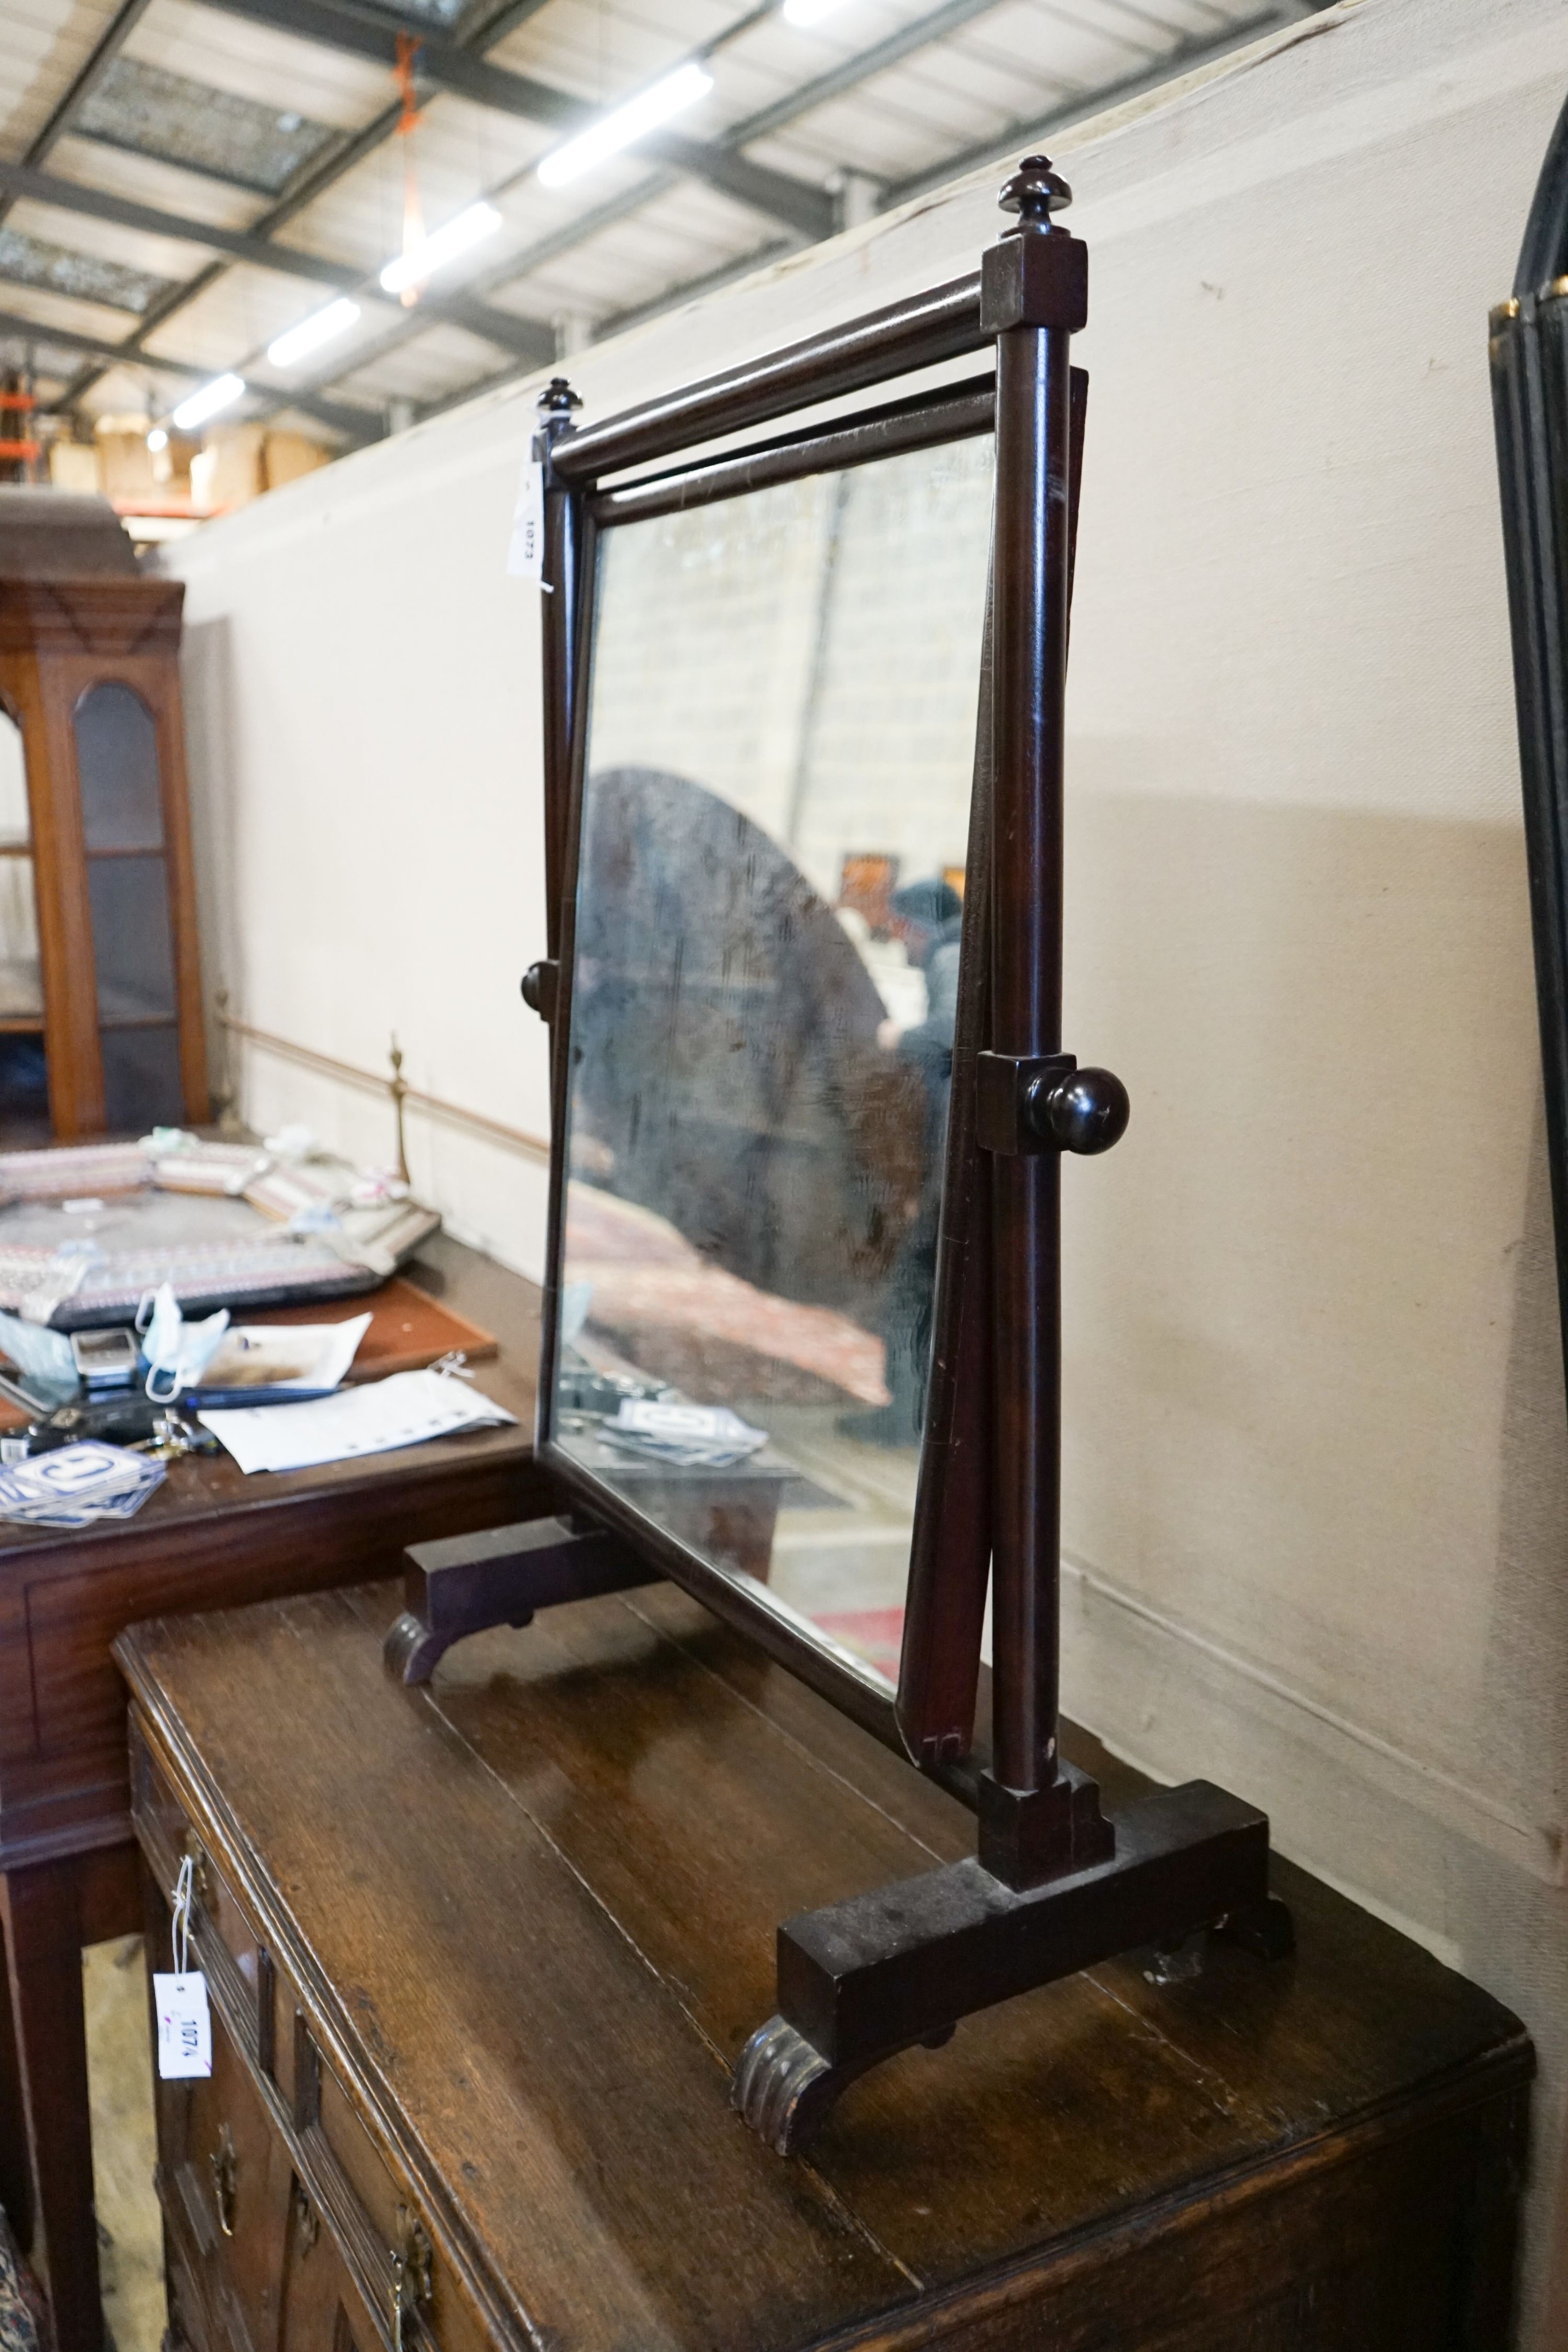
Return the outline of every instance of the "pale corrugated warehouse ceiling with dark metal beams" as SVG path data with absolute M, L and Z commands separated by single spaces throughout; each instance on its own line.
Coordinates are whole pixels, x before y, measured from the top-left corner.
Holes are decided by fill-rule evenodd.
M 802 28 L 743 0 L 7 0 L 0 367 L 87 414 L 162 414 L 235 369 L 237 416 L 369 437 L 390 405 L 536 367 L 804 242 L 835 205 L 896 202 L 1314 5 L 839 0 Z M 423 42 L 425 226 L 480 195 L 503 216 L 414 308 L 376 287 L 404 221 L 400 31 Z M 693 54 L 715 87 L 670 125 L 691 146 L 541 186 L 574 113 Z M 353 332 L 268 367 L 334 292 L 360 301 Z

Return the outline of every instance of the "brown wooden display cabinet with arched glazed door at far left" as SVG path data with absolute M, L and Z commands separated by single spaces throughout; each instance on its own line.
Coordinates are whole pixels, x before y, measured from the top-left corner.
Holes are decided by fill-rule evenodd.
M 0 1117 L 28 1141 L 209 1117 L 183 595 L 103 499 L 0 492 Z

